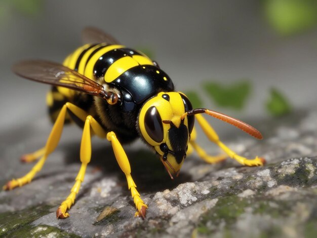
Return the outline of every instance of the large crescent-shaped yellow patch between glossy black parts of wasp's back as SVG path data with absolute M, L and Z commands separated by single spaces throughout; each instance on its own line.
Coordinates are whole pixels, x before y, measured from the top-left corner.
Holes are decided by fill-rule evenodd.
M 118 59 L 107 69 L 104 80 L 106 83 L 110 83 L 128 69 L 138 65 L 139 63 L 130 56 Z

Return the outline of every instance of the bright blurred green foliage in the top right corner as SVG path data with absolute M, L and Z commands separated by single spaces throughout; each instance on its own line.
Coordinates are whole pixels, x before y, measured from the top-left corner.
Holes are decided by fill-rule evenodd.
M 266 0 L 264 3 L 270 25 L 282 35 L 317 26 L 317 0 Z

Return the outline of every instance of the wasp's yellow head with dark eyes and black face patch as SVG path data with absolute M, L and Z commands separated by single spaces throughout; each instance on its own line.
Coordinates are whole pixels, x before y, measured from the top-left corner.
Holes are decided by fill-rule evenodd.
M 164 92 L 149 99 L 140 111 L 141 135 L 160 155 L 170 175 L 179 173 L 186 157 L 194 116 L 182 115 L 191 109 L 184 94 Z

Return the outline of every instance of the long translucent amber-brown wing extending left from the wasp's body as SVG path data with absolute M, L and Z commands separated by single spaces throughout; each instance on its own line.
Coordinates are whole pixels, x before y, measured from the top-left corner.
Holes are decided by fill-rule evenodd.
M 59 63 L 45 60 L 26 60 L 13 65 L 12 70 L 29 80 L 61 86 L 93 96 L 107 97 L 100 84 Z

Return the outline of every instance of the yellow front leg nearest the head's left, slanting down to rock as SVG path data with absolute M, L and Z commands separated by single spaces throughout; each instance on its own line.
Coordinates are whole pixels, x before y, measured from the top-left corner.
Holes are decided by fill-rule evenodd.
M 134 204 L 138 209 L 138 212 L 135 213 L 135 216 L 140 216 L 143 219 L 146 215 L 147 206 L 142 201 L 139 192 L 136 189 L 136 184 L 134 183 L 132 176 L 131 176 L 131 167 L 127 157 L 126 152 L 124 151 L 121 143 L 116 138 L 114 132 L 109 132 L 107 134 L 107 140 L 111 141 L 111 145 L 113 148 L 113 152 L 116 158 L 118 165 L 120 166 L 121 170 L 125 173 L 128 181 L 128 187 L 131 190 L 131 195 L 133 197 Z

